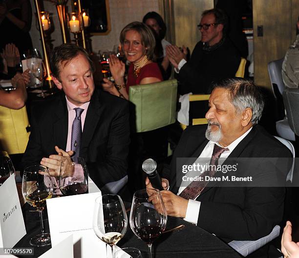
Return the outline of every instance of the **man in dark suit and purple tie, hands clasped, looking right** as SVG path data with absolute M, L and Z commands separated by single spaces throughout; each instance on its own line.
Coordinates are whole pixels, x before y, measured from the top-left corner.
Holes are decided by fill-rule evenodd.
M 92 62 L 76 45 L 56 47 L 50 65 L 53 81 L 63 92 L 33 110 L 22 166 L 41 163 L 57 177 L 61 160 L 76 155 L 85 159 L 98 187 L 122 179 L 128 168 L 128 101 L 95 89 Z M 82 136 L 73 141 L 78 108 Z

